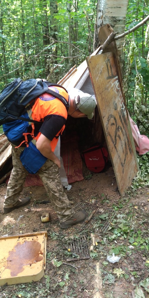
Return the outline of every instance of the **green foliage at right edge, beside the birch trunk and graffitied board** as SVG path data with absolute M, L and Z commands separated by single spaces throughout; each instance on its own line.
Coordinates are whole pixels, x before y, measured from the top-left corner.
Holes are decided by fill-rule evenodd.
M 129 1 L 126 30 L 133 28 L 148 14 L 146 1 Z M 124 52 L 124 91 L 128 111 L 140 133 L 149 137 L 149 24 L 125 37 Z M 140 172 L 133 180 L 133 190 L 149 185 L 149 155 L 138 156 L 138 162 Z

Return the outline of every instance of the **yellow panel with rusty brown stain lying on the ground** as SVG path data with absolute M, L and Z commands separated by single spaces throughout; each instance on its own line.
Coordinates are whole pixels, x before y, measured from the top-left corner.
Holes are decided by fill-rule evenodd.
M 0 238 L 0 285 L 40 280 L 46 266 L 47 232 Z

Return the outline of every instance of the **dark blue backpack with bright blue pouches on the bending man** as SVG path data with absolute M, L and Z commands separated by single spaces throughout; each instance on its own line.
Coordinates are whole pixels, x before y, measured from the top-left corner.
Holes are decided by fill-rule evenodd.
M 18 78 L 8 84 L 0 94 L 0 125 L 2 124 L 4 134 L 11 143 L 15 146 L 21 145 L 26 147 L 21 153 L 20 159 L 24 167 L 32 174 L 36 173 L 42 164 L 44 164 L 46 157 L 31 142 L 35 138 L 33 125 L 36 124 L 37 134 L 43 122 L 30 119 L 27 111 L 32 108 L 35 99 L 44 92 L 57 97 L 65 105 L 66 110 L 68 111 L 69 109 L 67 100 L 61 94 L 49 90 L 48 86 L 62 87 L 58 84 L 43 81 L 42 79 L 23 81 Z M 64 87 L 62 88 L 65 89 Z M 66 89 L 65 91 L 67 92 Z M 33 122 L 32 125 L 29 122 Z M 26 134 L 25 140 L 23 140 L 23 134 Z M 29 167 L 32 164 L 30 160 L 32 158 L 35 159 L 35 153 L 38 162 L 34 163 L 34 165 L 38 164 L 38 167 L 30 169 Z

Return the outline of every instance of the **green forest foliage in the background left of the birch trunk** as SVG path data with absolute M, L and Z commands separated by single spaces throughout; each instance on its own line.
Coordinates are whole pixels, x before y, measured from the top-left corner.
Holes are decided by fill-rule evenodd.
M 53 25 L 51 21 L 48 2 L 1 1 L 0 90 L 14 77 L 24 79 L 48 77 L 56 83 L 72 66 L 80 64 L 92 52 L 94 35 L 92 18 L 96 1 L 81 1 L 79 5 L 70 1 L 70 12 L 66 1 L 57 1 L 55 5 L 58 5 L 58 13 L 53 16 L 58 27 L 57 42 L 51 37 L 51 30 L 55 24 Z M 69 15 L 71 58 L 67 58 Z

